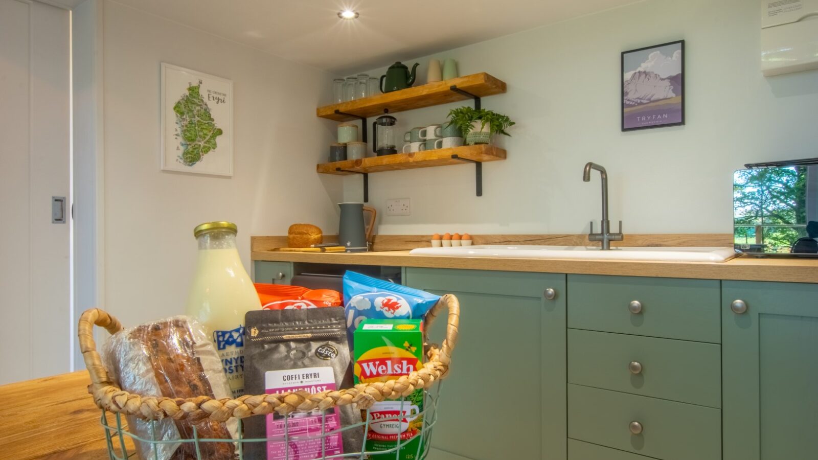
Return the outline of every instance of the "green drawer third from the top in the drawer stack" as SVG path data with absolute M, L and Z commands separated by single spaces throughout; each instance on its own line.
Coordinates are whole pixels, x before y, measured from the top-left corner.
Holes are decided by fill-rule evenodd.
M 719 409 L 573 384 L 568 408 L 571 439 L 663 460 L 721 459 Z

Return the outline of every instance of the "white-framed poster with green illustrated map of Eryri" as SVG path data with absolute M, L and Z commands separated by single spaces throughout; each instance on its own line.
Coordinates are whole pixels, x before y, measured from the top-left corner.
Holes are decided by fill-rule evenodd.
M 161 169 L 233 175 L 233 82 L 161 64 Z

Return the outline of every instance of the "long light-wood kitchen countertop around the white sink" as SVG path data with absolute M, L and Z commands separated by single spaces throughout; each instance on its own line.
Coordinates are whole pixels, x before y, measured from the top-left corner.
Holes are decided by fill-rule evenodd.
M 727 262 L 645 262 L 631 260 L 510 259 L 409 255 L 408 250 L 365 253 L 299 253 L 255 250 L 254 260 L 313 264 L 392 265 L 422 268 L 466 268 L 504 272 L 578 273 L 635 277 L 679 277 L 720 280 L 818 282 L 818 259 L 757 259 L 739 256 Z

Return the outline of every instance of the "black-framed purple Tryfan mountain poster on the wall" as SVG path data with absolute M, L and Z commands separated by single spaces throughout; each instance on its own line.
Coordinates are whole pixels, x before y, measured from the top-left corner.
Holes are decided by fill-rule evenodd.
M 685 124 L 685 40 L 622 52 L 622 131 Z

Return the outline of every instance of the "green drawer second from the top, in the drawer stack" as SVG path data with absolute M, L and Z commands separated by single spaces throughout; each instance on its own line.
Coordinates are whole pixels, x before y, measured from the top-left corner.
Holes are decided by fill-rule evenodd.
M 568 381 L 721 408 L 721 345 L 569 329 Z

